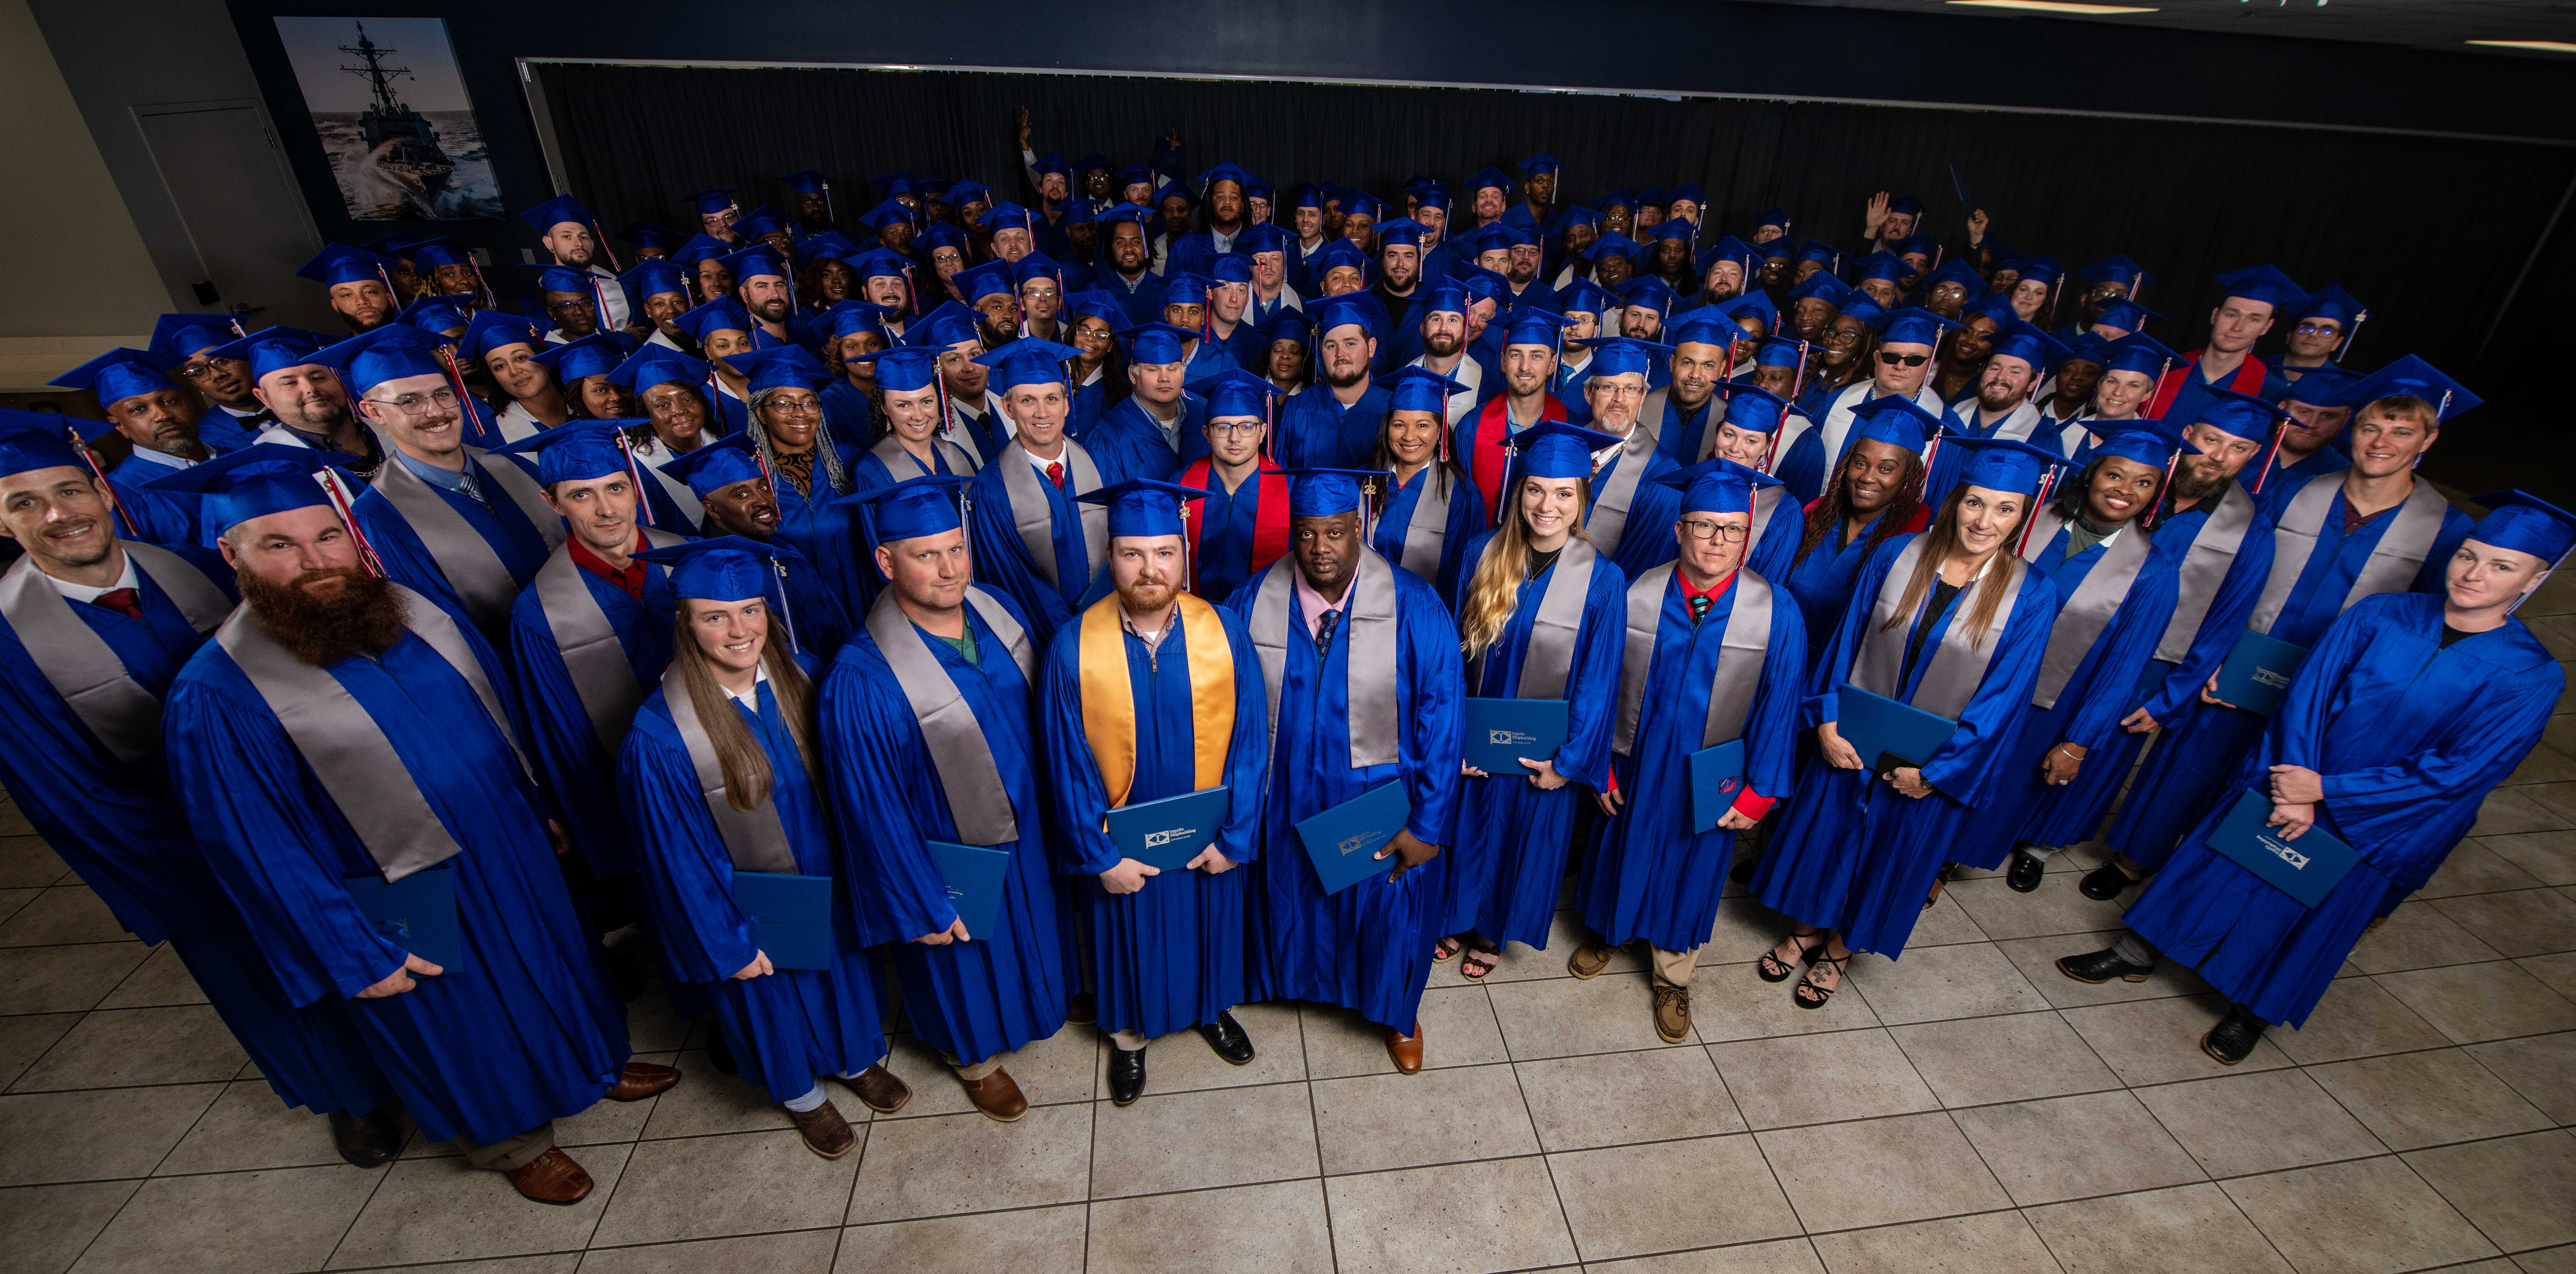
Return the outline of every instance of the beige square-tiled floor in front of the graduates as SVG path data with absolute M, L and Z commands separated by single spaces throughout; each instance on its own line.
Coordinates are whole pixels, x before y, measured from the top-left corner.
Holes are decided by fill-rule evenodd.
M 2527 611 L 2576 658 L 2576 580 Z M 1115 1109 L 1074 1026 L 1012 1068 L 1036 1109 L 1005 1127 L 907 1039 L 912 1106 L 840 1163 L 647 998 L 636 1047 L 688 1081 L 562 1124 L 600 1184 L 569 1210 L 440 1148 L 340 1166 L 178 962 L 0 807 L 0 1271 L 2571 1274 L 2561 712 L 2308 1029 L 2241 1068 L 2197 1052 L 2218 1006 L 2190 972 L 2050 967 L 2117 926 L 2076 895 L 2076 851 L 2035 895 L 1953 885 L 1922 946 L 1857 959 L 1821 1014 L 1754 980 L 1780 928 L 1728 900 L 1682 1047 L 1649 1026 L 1633 957 L 1564 975 L 1571 916 L 1489 985 L 1432 975 L 1414 1078 L 1347 1014 L 1252 1006 L 1255 1065 L 1175 1037 Z

